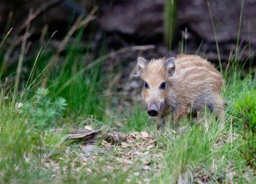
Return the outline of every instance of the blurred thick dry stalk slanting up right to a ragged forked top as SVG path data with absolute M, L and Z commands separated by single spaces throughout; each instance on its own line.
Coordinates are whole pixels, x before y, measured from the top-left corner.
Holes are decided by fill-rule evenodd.
M 82 26 L 87 26 L 87 24 L 95 19 L 95 16 L 93 14 L 96 13 L 96 11 L 98 10 L 98 6 L 94 7 L 93 10 L 90 12 L 90 14 L 84 19 L 82 20 L 82 16 L 79 16 L 78 19 L 76 20 L 76 22 L 73 24 L 73 26 L 71 27 L 70 31 L 67 33 L 67 36 L 64 38 L 64 40 L 62 40 L 61 45 L 58 47 L 58 51 L 57 53 L 51 57 L 49 63 L 49 69 L 47 71 L 47 73 L 43 76 L 46 80 L 44 80 L 44 82 L 42 83 L 41 87 L 46 86 L 46 82 L 47 79 L 49 79 L 49 76 L 54 68 L 54 66 L 57 64 L 57 60 L 61 54 L 61 52 L 64 50 L 65 46 L 67 45 L 67 42 L 70 40 L 70 37 L 74 34 L 75 31 L 77 31 L 79 28 L 81 28 Z

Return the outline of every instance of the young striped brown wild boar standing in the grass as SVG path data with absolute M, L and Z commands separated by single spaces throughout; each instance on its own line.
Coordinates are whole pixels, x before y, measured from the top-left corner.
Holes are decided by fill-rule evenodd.
M 169 62 L 170 59 L 174 60 Z M 224 80 L 207 60 L 183 54 L 169 54 L 150 61 L 139 58 L 135 76 L 148 84 L 148 88 L 142 91 L 147 108 L 154 104 L 159 110 L 157 130 L 164 130 L 169 115 L 174 129 L 177 129 L 180 119 L 188 116 L 189 111 L 196 113 L 205 106 L 222 121 L 224 102 L 221 89 Z M 160 89 L 163 82 L 166 82 L 165 90 Z

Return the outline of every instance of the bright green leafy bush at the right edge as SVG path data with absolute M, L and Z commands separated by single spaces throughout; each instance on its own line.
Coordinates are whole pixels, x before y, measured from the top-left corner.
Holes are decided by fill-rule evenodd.
M 244 128 L 244 157 L 249 164 L 256 167 L 256 90 L 248 87 L 236 101 L 234 114 Z

